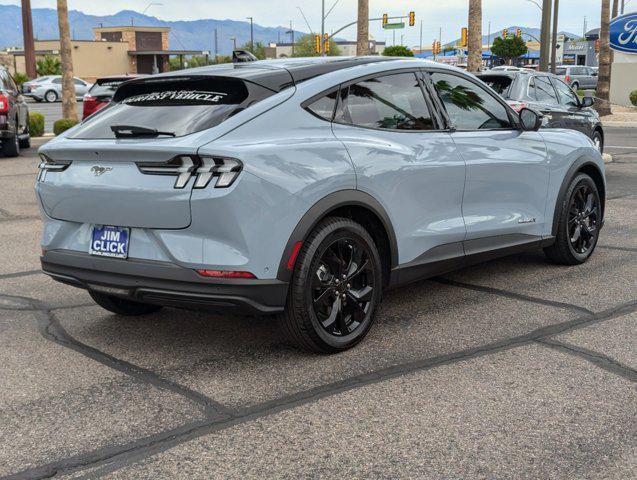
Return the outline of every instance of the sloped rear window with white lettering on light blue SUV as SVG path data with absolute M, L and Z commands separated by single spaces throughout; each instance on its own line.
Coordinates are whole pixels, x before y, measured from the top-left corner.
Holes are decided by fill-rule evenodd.
M 181 137 L 215 127 L 276 92 L 233 77 L 159 77 L 128 83 L 99 115 L 71 136 L 116 138 L 112 126 L 155 129 Z

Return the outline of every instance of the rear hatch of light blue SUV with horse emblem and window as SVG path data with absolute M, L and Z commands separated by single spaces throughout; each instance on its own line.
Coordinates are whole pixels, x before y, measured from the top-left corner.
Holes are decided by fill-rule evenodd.
M 228 119 L 276 93 L 210 75 L 122 85 L 109 106 L 41 148 L 37 190 L 44 211 L 99 225 L 187 227 L 198 147 L 222 135 Z

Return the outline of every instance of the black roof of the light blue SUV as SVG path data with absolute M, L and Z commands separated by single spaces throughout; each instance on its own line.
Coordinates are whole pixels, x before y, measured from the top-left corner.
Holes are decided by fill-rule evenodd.
M 414 67 L 435 66 L 437 68 L 449 68 L 440 63 L 406 57 L 299 57 L 282 58 L 276 60 L 258 60 L 254 62 L 225 63 L 210 65 L 187 70 L 162 73 L 133 82 L 154 81 L 157 78 L 188 78 L 191 76 L 227 76 L 243 79 L 279 92 L 289 86 L 321 75 L 379 63 L 403 63 L 409 62 Z M 412 63 L 413 62 L 413 63 Z

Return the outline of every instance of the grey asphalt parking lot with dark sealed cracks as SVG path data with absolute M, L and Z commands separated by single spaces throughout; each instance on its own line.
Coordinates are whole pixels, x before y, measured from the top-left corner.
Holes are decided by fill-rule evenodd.
M 363 343 L 124 318 L 39 273 L 35 150 L 0 158 L 0 477 L 637 477 L 637 129 L 579 267 L 529 253 L 389 292 Z

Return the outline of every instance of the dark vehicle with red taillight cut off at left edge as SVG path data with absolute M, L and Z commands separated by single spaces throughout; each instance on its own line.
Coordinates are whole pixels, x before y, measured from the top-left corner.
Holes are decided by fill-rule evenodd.
M 0 66 L 0 153 L 17 157 L 29 148 L 29 109 L 8 70 Z

